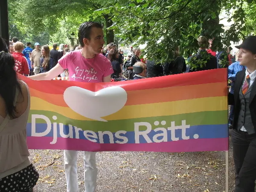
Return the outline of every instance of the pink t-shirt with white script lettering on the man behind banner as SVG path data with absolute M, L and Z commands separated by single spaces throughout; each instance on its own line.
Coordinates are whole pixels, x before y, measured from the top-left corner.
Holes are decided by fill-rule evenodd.
M 58 63 L 63 69 L 68 69 L 69 81 L 99 83 L 103 77 L 114 73 L 111 62 L 104 55 L 97 54 L 95 58 L 86 59 L 80 50 L 64 55 Z

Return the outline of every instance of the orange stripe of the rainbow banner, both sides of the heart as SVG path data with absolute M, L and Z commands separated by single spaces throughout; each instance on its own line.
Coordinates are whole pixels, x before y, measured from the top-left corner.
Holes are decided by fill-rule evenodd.
M 224 82 L 127 91 L 127 102 L 125 105 L 142 105 L 204 97 L 227 96 L 226 87 L 227 83 Z M 63 95 L 42 93 L 32 88 L 30 88 L 30 95 L 43 99 L 54 105 L 68 107 L 63 99 Z

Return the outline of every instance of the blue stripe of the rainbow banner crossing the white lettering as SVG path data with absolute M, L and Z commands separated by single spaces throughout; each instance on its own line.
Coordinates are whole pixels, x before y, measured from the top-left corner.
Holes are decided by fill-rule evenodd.
M 176 128 L 175 130 L 167 130 L 166 128 L 159 128 L 159 130 L 149 130 L 148 133 L 146 131 L 120 131 L 116 133 L 111 133 L 110 131 L 105 132 L 104 134 L 99 132 L 90 131 L 90 133 L 84 133 L 79 128 L 75 128 L 68 125 L 63 126 L 60 130 L 59 125 L 57 124 L 57 130 L 53 128 L 53 124 L 51 129 L 48 128 L 47 124 L 37 123 L 34 134 L 32 135 L 32 127 L 31 123 L 27 124 L 27 136 L 34 137 L 65 137 L 70 133 L 69 130 L 73 131 L 72 138 L 79 138 L 83 140 L 94 140 L 96 143 L 116 143 L 116 141 L 123 142 L 124 140 L 128 141 L 125 143 L 151 143 L 151 142 L 162 142 L 162 141 L 176 141 L 176 140 L 187 140 L 187 139 L 210 139 L 210 138 L 225 138 L 228 137 L 228 126 L 224 125 L 195 125 L 190 128 L 180 129 Z M 102 130 L 103 132 L 104 130 Z M 61 132 L 61 133 L 60 133 Z M 40 134 L 41 133 L 41 134 Z M 143 135 L 144 133 L 144 135 Z M 139 135 L 140 134 L 140 135 Z M 157 135 L 158 134 L 158 135 Z M 85 137 L 87 136 L 87 138 Z M 94 135 L 94 136 L 93 136 Z M 164 135 L 164 136 L 163 136 Z M 99 137 L 100 136 L 100 137 Z M 69 136 L 66 136 L 69 137 Z M 125 137 L 127 139 L 125 139 Z M 137 139 L 136 139 L 137 138 Z M 117 142 L 119 143 L 119 142 Z

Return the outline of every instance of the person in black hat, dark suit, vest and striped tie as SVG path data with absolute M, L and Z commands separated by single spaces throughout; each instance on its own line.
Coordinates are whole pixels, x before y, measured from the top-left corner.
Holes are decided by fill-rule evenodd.
M 234 192 L 254 192 L 256 180 L 256 36 L 249 36 L 239 49 L 238 61 L 246 70 L 236 74 L 232 130 L 233 159 L 236 171 Z

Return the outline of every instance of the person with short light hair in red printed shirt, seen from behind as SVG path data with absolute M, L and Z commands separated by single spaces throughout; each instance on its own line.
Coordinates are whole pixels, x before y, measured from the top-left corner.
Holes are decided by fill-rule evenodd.
M 14 60 L 15 60 L 15 67 L 14 67 L 15 71 L 17 73 L 20 73 L 23 76 L 27 76 L 29 75 L 29 64 L 22 53 L 23 49 L 24 49 L 24 44 L 21 43 L 20 41 L 17 41 L 14 44 L 15 52 L 12 53 L 12 56 L 14 57 Z

